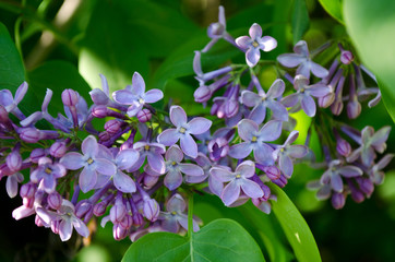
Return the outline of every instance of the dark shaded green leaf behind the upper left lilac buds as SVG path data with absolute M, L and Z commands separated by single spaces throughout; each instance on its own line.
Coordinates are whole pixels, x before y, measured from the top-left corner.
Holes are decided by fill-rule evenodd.
M 47 88 L 53 92 L 52 99 L 49 103 L 49 112 L 57 116 L 63 114 L 63 103 L 61 94 L 63 90 L 72 88 L 85 98 L 89 104 L 91 97 L 88 92 L 91 87 L 80 75 L 74 64 L 65 61 L 49 61 L 28 72 L 29 92 L 34 92 L 38 102 L 34 105 L 34 110 L 40 110 Z

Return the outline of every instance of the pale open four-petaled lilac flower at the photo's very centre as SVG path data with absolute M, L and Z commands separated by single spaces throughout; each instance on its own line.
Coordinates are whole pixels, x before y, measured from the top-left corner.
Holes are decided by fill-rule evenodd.
M 157 138 L 158 142 L 170 146 L 180 140 L 183 153 L 195 158 L 198 156 L 198 145 L 191 134 L 204 133 L 212 126 L 212 121 L 196 117 L 187 122 L 187 114 L 180 106 L 170 107 L 170 121 L 176 126 L 176 129 L 167 129 L 161 132 Z

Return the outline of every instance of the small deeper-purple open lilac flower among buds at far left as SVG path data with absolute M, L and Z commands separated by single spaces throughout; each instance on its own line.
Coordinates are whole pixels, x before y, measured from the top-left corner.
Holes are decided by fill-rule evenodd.
M 65 176 L 65 172 L 63 165 L 52 164 L 50 158 L 41 157 L 38 160 L 38 167 L 31 174 L 31 180 L 34 183 L 43 181 L 44 190 L 51 193 L 57 186 L 56 180 Z

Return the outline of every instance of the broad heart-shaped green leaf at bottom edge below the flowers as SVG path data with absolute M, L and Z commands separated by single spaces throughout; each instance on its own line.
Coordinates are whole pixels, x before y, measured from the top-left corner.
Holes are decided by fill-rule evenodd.
M 171 233 L 152 233 L 132 243 L 122 262 L 262 262 L 253 238 L 238 223 L 217 219 L 191 238 Z

